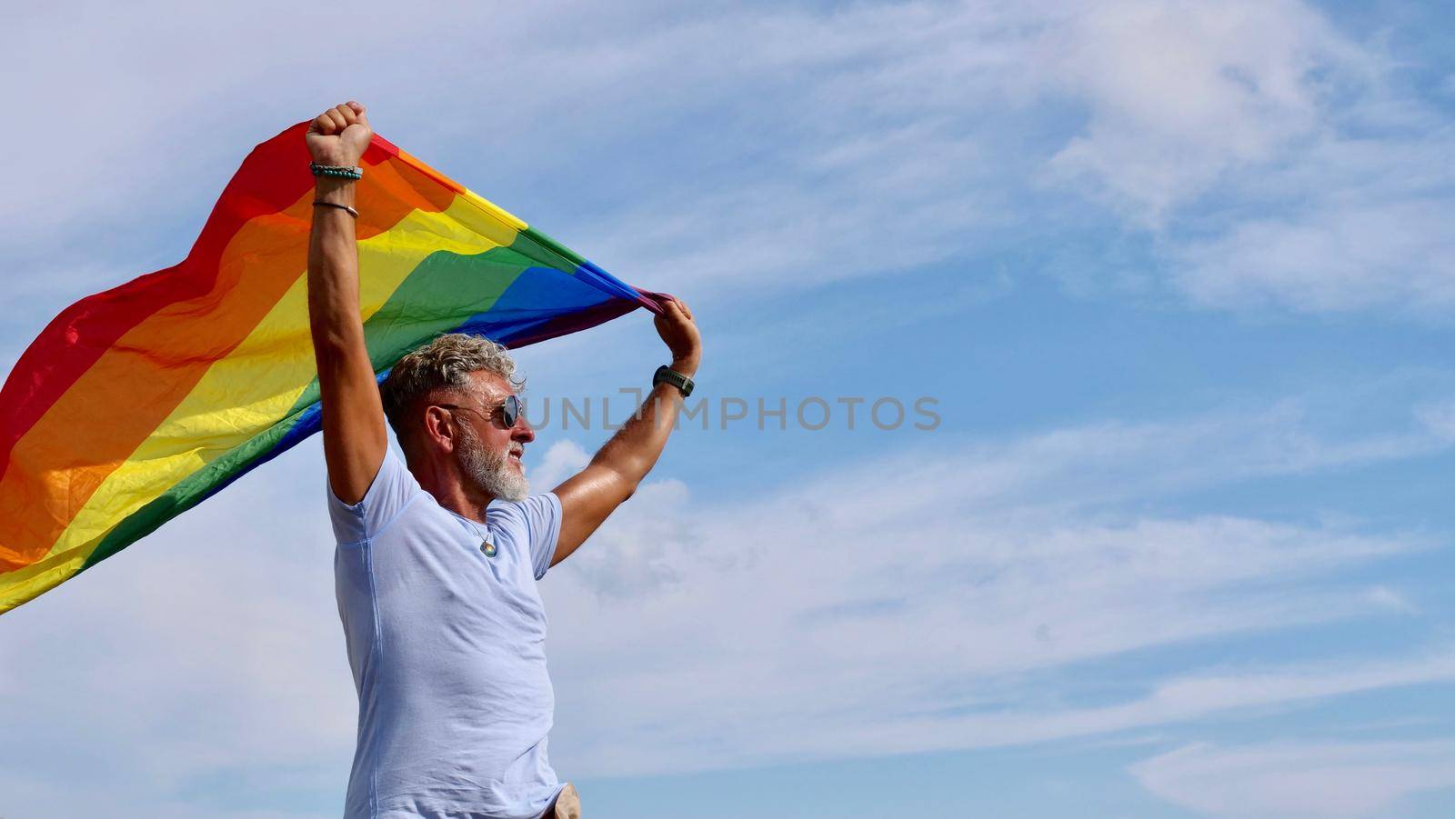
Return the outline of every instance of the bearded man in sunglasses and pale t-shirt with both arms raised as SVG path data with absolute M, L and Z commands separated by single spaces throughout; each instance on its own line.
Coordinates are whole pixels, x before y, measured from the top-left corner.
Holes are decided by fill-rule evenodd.
M 307 143 L 316 166 L 352 167 L 370 137 L 364 106 L 349 102 L 319 115 Z M 319 176 L 308 316 L 339 617 L 359 697 L 345 816 L 579 816 L 546 755 L 554 694 L 535 580 L 661 455 L 701 356 L 693 314 L 677 301 L 656 319 L 672 358 L 637 415 L 579 474 L 528 495 L 521 460 L 535 432 L 502 346 L 441 336 L 375 385 L 352 205 L 352 179 Z M 388 451 L 386 418 L 403 461 Z

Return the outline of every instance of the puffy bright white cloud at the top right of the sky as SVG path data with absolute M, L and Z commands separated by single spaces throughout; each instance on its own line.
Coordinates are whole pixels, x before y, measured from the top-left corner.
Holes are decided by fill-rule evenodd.
M 1314 135 L 1328 90 L 1318 74 L 1374 68 L 1293 1 L 1099 3 L 1046 41 L 1052 81 L 1088 111 L 1052 169 L 1148 225 Z

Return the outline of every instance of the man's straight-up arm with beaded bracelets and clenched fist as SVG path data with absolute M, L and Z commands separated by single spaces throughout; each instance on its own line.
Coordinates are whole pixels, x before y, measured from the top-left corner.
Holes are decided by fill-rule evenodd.
M 324 166 L 358 166 L 372 131 L 364 106 L 348 102 L 308 124 L 308 153 Z M 329 486 L 345 503 L 364 499 L 384 461 L 384 404 L 364 345 L 354 180 L 319 176 L 308 236 L 308 326 L 323 400 Z

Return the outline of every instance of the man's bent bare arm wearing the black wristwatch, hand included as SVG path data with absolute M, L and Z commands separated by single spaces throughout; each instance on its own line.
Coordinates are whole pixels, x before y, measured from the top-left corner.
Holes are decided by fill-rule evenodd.
M 703 342 L 687 304 L 671 300 L 656 317 L 656 332 L 672 353 L 672 369 L 691 378 L 703 358 Z M 556 487 L 560 498 L 560 535 L 551 566 L 576 551 L 656 464 L 682 409 L 682 393 L 662 383 L 642 401 L 585 470 Z

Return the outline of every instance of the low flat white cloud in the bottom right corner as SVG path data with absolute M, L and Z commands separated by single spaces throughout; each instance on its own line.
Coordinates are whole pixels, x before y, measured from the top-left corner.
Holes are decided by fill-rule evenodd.
M 1455 742 L 1196 743 L 1131 771 L 1206 816 L 1390 816 L 1410 794 L 1455 787 Z

